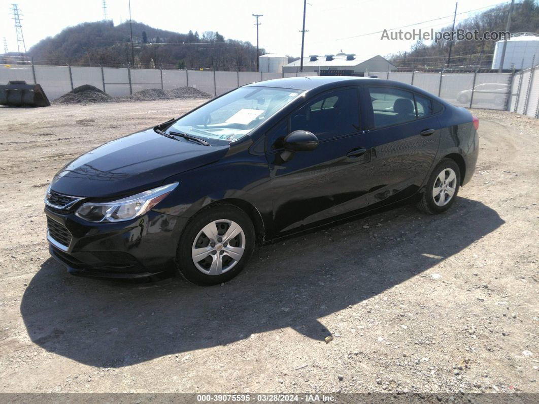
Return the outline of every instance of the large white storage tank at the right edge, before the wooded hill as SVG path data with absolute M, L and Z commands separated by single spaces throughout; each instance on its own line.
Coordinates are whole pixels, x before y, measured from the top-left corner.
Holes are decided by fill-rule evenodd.
M 500 69 L 502 52 L 503 40 L 499 40 L 494 47 L 492 69 Z M 539 35 L 533 32 L 514 33 L 511 39 L 507 40 L 503 69 L 512 69 L 513 65 L 515 69 L 528 69 L 532 67 L 534 56 L 535 65 L 537 65 L 539 64 Z

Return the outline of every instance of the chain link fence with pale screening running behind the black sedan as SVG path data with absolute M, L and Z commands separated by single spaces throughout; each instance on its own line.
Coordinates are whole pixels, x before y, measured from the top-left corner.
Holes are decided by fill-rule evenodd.
M 367 72 L 365 76 L 411 84 L 461 107 L 508 110 L 537 118 L 538 70 L 539 65 L 517 73 Z M 248 83 L 296 76 L 317 76 L 317 73 L 0 65 L 0 83 L 9 80 L 39 83 L 50 100 L 83 84 L 98 87 L 112 97 L 129 95 L 146 88 L 172 90 L 177 87 L 195 87 L 210 95 L 220 95 Z

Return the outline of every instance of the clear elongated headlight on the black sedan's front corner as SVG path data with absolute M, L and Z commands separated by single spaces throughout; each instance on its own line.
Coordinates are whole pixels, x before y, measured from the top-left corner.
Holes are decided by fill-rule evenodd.
M 88 222 L 121 222 L 145 214 L 178 186 L 178 182 L 113 202 L 83 204 L 75 215 Z

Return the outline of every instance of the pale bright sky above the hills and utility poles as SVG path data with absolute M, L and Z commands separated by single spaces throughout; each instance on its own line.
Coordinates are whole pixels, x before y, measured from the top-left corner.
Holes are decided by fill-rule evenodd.
M 0 40 L 6 38 L 9 51 L 17 51 L 11 3 L 22 12 L 26 49 L 39 40 L 54 36 L 67 26 L 103 19 L 102 0 L 0 0 Z M 107 17 L 114 24 L 129 19 L 128 0 L 106 0 Z M 501 0 L 460 0 L 457 22 L 484 11 Z M 432 0 L 308 0 L 305 56 L 356 53 L 358 59 L 408 51 L 414 40 L 381 39 L 381 33 L 405 25 L 403 30 L 434 30 L 453 22 L 455 2 Z M 479 10 L 478 10 L 479 9 Z M 471 11 L 474 10 L 474 11 Z M 189 30 L 218 31 L 226 39 L 256 44 L 255 18 L 260 47 L 271 53 L 299 56 L 303 0 L 131 0 L 132 18 L 155 28 L 186 33 Z M 443 17 L 443 18 L 441 18 Z M 440 19 L 438 19 L 440 18 Z M 435 21 L 426 22 L 437 19 Z M 2 49 L 3 52 L 3 42 Z

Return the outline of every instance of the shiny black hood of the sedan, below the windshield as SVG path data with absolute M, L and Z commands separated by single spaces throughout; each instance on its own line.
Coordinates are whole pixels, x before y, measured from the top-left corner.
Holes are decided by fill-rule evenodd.
M 217 161 L 229 145 L 174 140 L 150 128 L 106 143 L 67 163 L 51 189 L 66 195 L 109 198 L 160 186 L 167 177 Z

